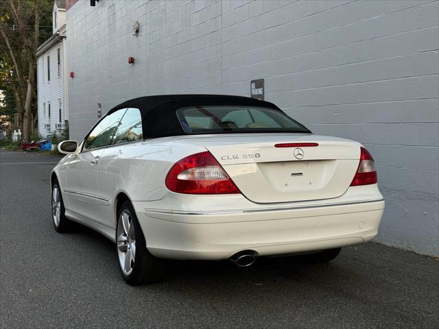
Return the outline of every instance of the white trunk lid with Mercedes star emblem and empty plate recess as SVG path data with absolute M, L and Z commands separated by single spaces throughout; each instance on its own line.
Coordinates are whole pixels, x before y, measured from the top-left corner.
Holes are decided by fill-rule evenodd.
M 360 155 L 357 142 L 313 134 L 218 134 L 189 139 L 215 156 L 245 197 L 261 204 L 339 197 L 351 184 Z M 278 143 L 318 146 L 274 147 Z

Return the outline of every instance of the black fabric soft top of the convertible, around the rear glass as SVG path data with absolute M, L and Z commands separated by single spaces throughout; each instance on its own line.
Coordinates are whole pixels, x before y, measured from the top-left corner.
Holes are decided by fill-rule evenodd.
M 185 135 L 176 110 L 185 106 L 259 106 L 281 111 L 268 101 L 230 95 L 156 95 L 130 99 L 115 106 L 108 114 L 121 108 L 139 108 L 142 116 L 143 137 Z M 282 112 L 282 111 L 281 111 Z

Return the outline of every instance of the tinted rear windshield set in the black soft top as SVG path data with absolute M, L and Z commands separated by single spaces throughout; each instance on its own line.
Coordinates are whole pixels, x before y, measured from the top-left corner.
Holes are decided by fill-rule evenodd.
M 187 134 L 310 131 L 281 110 L 248 106 L 191 106 L 177 111 Z

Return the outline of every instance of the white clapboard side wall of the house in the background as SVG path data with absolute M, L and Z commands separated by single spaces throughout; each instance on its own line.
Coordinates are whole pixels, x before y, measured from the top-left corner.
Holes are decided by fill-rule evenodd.
M 58 77 L 57 49 L 61 49 L 61 70 Z M 50 56 L 50 81 L 47 81 L 47 56 Z M 54 133 L 58 136 L 65 127 L 65 105 L 64 105 L 64 76 L 67 70 L 64 67 L 63 42 L 52 46 L 45 53 L 41 54 L 37 60 L 38 71 L 38 132 L 43 137 L 51 136 Z M 62 101 L 61 122 L 59 117 L 58 99 Z M 51 116 L 49 122 L 48 103 L 51 104 Z M 44 106 L 46 111 L 44 113 Z M 45 124 L 50 123 L 50 129 Z M 61 127 L 57 127 L 61 123 Z

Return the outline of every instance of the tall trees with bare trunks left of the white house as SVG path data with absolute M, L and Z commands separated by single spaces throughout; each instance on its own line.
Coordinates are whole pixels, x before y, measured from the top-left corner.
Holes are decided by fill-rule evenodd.
M 50 0 L 0 1 L 0 88 L 3 112 L 22 114 L 23 139 L 36 115 L 36 49 L 51 35 Z M 12 105 L 13 104 L 13 105 Z

